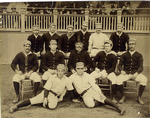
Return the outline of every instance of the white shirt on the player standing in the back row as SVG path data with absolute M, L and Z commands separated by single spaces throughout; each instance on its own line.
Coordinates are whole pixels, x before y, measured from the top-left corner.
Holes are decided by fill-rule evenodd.
M 104 49 L 104 42 L 109 38 L 103 33 L 93 33 L 89 38 L 89 50 L 92 48 Z

